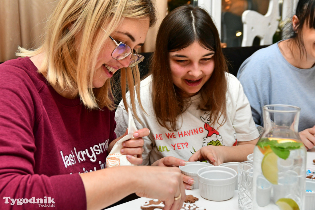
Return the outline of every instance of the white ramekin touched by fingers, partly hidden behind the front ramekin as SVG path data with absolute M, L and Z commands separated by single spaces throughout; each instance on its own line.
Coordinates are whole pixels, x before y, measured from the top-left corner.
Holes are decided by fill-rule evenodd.
M 199 189 L 197 172 L 200 168 L 204 168 L 207 166 L 213 166 L 213 165 L 207 162 L 196 161 L 196 162 L 187 162 L 186 166 L 179 166 L 179 169 L 182 174 L 185 174 L 194 179 L 195 184 L 192 185 L 192 189 Z

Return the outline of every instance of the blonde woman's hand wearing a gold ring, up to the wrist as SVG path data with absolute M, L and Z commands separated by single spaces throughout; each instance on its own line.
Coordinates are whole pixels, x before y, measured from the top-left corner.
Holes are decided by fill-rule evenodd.
M 140 197 L 157 198 L 164 201 L 164 210 L 179 210 L 185 200 L 180 169 L 177 167 L 137 166 L 138 181 L 136 194 Z M 142 170 L 145 167 L 145 170 Z M 148 168 L 147 168 L 148 167 Z M 180 195 L 180 198 L 175 200 Z

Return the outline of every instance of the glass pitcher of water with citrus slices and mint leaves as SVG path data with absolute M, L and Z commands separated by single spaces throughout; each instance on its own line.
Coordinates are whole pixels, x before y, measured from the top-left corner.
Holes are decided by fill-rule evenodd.
M 264 132 L 254 149 L 253 209 L 304 209 L 306 149 L 298 133 L 300 110 L 263 107 Z

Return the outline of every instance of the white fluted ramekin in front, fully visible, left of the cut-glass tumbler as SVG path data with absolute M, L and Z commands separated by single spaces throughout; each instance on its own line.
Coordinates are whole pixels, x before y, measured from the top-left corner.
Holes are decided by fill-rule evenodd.
M 204 167 L 197 172 L 200 195 L 210 201 L 233 197 L 237 172 L 225 166 Z

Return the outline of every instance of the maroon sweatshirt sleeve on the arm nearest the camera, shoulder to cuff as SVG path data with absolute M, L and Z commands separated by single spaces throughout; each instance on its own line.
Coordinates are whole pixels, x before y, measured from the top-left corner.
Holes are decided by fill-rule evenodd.
M 79 174 L 35 174 L 36 128 L 33 87 L 18 68 L 0 68 L 0 197 L 1 209 L 43 209 L 38 203 L 14 199 L 42 199 L 55 209 L 86 209 L 86 196 Z M 15 73 L 12 73 L 12 71 Z M 10 197 L 10 198 L 9 198 Z M 7 200 L 6 200 L 7 199 Z M 10 200 L 12 199 L 12 200 Z M 7 202 L 6 202 L 7 201 Z M 24 200 L 26 202 L 26 200 Z M 33 200 L 31 200 L 33 201 Z M 35 200 L 36 201 L 36 200 Z M 40 201 L 38 201 L 40 202 Z M 49 203 L 50 202 L 50 203 Z M 46 206 L 47 208 L 47 206 Z

